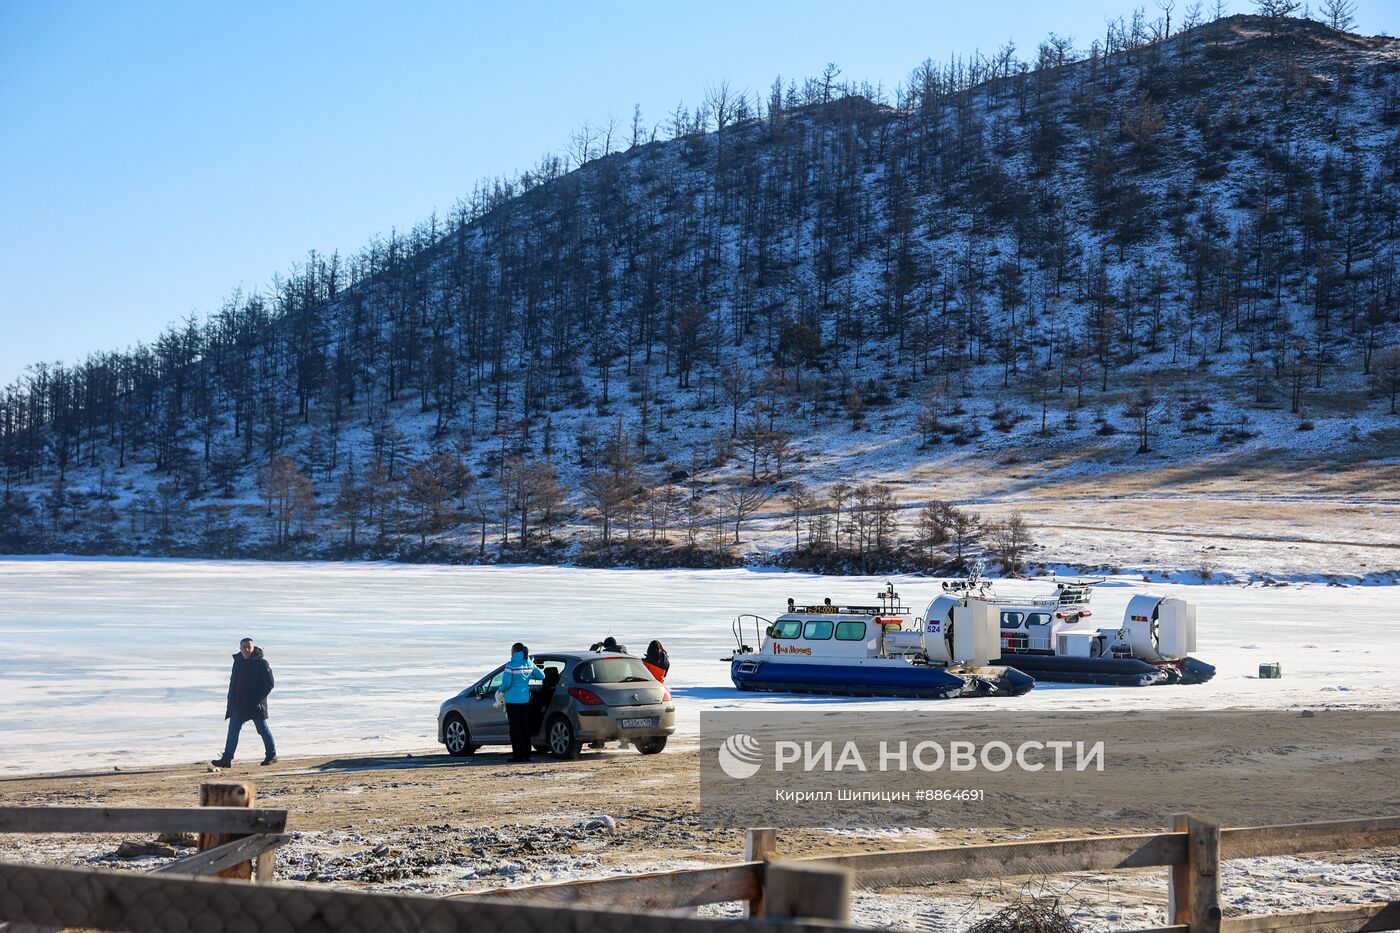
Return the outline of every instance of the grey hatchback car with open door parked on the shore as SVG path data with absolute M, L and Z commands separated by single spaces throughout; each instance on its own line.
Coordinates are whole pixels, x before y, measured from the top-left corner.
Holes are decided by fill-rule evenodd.
M 543 684 L 531 684 L 531 741 L 559 758 L 578 758 L 585 742 L 627 741 L 655 755 L 676 731 L 671 691 L 629 654 L 577 651 L 535 654 Z M 505 665 L 438 709 L 438 741 L 451 755 L 482 745 L 508 745 L 505 710 L 496 706 Z

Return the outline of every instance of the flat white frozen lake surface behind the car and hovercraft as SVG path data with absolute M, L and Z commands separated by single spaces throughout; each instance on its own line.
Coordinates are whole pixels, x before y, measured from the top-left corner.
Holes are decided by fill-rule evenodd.
M 799 602 L 874 601 L 886 577 L 750 570 L 577 570 L 386 563 L 0 560 L 0 772 L 202 761 L 223 748 L 224 696 L 238 639 L 251 635 L 277 677 L 279 754 L 433 751 L 438 703 L 505 660 L 588 647 L 606 635 L 636 653 L 652 637 L 672 657 L 679 731 L 703 709 L 935 710 L 1385 706 L 1400 707 L 1393 587 L 1226 587 L 1112 579 L 1095 593 L 1100 625 L 1127 600 L 1169 591 L 1197 605 L 1204 686 L 1037 686 L 1000 700 L 832 700 L 739 693 L 720 658 L 741 612 Z M 892 577 L 921 615 L 938 581 Z M 1046 583 L 1004 583 L 1039 593 Z M 1282 679 L 1260 681 L 1260 661 Z M 262 747 L 244 731 L 239 759 Z

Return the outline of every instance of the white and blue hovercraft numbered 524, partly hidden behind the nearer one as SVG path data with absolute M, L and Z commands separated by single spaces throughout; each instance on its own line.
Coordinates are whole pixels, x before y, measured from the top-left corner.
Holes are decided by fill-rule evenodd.
M 1001 598 L 977 577 L 944 584 L 928 605 L 924 628 L 951 625 L 959 608 L 994 618 L 1001 660 L 1037 681 L 1155 686 L 1204 684 L 1215 668 L 1190 657 L 1196 650 L 1196 607 L 1176 597 L 1140 594 L 1128 601 L 1119 628 L 1088 619 L 1092 588 L 1102 580 L 1057 583 L 1046 597 Z

